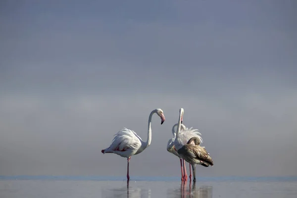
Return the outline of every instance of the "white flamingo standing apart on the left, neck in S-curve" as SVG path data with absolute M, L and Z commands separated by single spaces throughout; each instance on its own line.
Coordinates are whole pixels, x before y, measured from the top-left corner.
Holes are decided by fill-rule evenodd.
M 148 148 L 151 142 L 151 118 L 156 113 L 161 118 L 161 124 L 165 121 L 163 110 L 156 108 L 152 110 L 148 117 L 148 140 L 144 142 L 134 131 L 123 128 L 121 131 L 115 134 L 111 145 L 108 148 L 102 149 L 104 153 L 115 153 L 121 157 L 127 157 L 127 181 L 130 180 L 129 176 L 129 162 L 132 155 L 136 155 Z

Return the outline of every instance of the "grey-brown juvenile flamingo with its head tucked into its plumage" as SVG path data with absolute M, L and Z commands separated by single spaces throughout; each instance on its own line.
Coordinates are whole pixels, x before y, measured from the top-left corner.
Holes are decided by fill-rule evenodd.
M 193 142 L 195 145 L 193 145 Z M 178 149 L 178 154 L 185 159 L 187 162 L 192 164 L 194 180 L 196 182 L 196 164 L 201 164 L 202 166 L 208 167 L 213 166 L 213 160 L 209 156 L 209 153 L 205 148 L 199 146 L 200 139 L 197 137 L 191 138 L 186 145 Z

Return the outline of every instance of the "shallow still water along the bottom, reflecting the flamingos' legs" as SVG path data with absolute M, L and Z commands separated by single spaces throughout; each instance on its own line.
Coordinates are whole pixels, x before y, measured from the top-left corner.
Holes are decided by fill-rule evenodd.
M 297 178 L 0 176 L 0 198 L 297 198 Z

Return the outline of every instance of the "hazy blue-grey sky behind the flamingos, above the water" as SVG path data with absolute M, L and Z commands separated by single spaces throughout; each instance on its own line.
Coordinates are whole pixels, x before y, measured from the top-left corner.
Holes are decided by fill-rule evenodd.
M 126 175 L 123 127 L 151 145 L 130 176 L 180 176 L 166 150 L 199 129 L 198 176 L 297 175 L 296 0 L 0 2 L 0 175 Z M 187 166 L 188 167 L 188 166 Z

